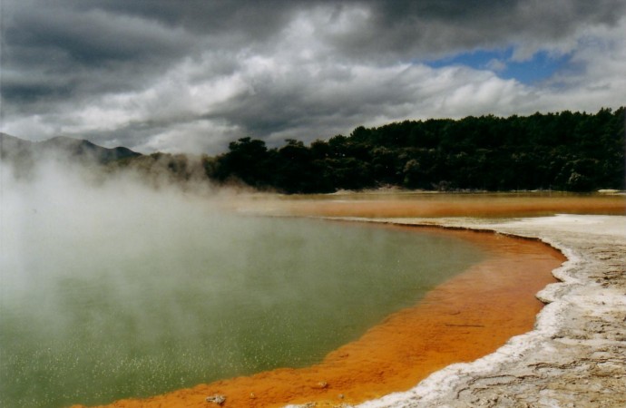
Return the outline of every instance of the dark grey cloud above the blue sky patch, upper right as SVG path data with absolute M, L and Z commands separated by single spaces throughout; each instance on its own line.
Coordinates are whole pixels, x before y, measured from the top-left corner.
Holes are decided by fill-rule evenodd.
M 558 41 L 581 24 L 615 24 L 620 0 L 433 0 L 363 2 L 371 10 L 356 30 L 331 34 L 342 53 L 362 58 L 428 59 L 520 39 Z

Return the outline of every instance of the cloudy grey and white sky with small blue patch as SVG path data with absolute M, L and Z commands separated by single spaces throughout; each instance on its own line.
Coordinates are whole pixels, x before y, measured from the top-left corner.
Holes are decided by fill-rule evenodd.
M 1 131 L 136 151 L 626 104 L 624 0 L 2 0 Z

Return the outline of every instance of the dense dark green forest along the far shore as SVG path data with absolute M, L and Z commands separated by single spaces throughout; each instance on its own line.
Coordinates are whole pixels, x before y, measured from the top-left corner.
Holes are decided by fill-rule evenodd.
M 623 107 L 402 121 L 269 149 L 242 138 L 205 157 L 211 180 L 286 193 L 337 189 L 624 189 Z

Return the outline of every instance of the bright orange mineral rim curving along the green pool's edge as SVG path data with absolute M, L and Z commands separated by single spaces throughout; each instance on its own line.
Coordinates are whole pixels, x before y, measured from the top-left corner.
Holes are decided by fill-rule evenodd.
M 224 396 L 223 407 L 360 403 L 405 391 L 448 364 L 488 355 L 512 336 L 532 330 L 543 306 L 535 294 L 555 282 L 551 271 L 564 260 L 560 252 L 538 241 L 494 233 L 425 229 L 470 240 L 488 256 L 435 287 L 416 306 L 388 316 L 358 340 L 330 353 L 320 364 L 200 384 L 108 406 L 218 406 L 206 401 L 213 395 Z

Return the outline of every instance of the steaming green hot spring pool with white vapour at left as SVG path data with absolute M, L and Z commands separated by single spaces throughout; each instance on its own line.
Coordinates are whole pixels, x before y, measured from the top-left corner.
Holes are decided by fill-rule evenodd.
M 57 164 L 21 180 L 2 165 L 1 406 L 314 364 L 482 257 L 415 232 L 238 216 L 223 197 Z

